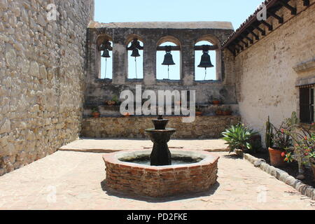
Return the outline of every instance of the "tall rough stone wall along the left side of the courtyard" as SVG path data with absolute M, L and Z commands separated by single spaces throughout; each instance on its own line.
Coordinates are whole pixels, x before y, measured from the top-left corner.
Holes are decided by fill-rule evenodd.
M 0 176 L 78 137 L 93 17 L 92 0 L 0 0 Z

